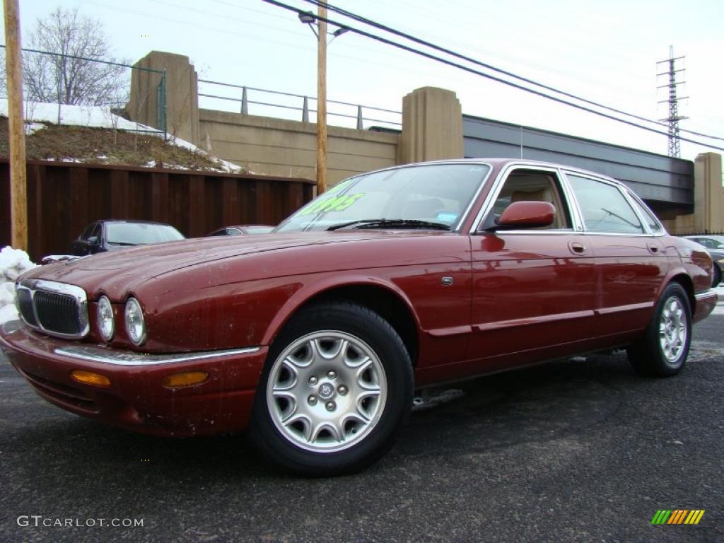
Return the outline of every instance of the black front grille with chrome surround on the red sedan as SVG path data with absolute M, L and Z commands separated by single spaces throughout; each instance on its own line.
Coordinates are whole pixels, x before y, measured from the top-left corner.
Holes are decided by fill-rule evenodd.
M 15 284 L 17 310 L 29 327 L 70 340 L 88 335 L 88 298 L 85 290 L 44 279 Z

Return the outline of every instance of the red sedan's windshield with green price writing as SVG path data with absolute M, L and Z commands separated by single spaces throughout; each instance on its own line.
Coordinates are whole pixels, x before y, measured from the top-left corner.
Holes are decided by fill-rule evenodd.
M 489 171 L 485 164 L 426 164 L 359 175 L 327 190 L 274 231 L 456 230 Z

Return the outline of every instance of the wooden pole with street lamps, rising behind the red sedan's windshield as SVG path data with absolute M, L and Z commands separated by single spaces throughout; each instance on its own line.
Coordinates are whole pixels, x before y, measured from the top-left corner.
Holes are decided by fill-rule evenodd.
M 319 6 L 316 16 L 313 12 L 299 12 L 299 20 L 309 25 L 317 38 L 317 195 L 327 190 L 327 8 Z M 319 31 L 314 28 L 316 22 Z M 347 32 L 346 27 L 337 28 L 332 40 Z M 329 40 L 329 43 L 332 43 Z

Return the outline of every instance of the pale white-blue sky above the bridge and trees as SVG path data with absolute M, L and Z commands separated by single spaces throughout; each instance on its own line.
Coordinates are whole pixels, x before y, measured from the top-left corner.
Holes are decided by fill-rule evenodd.
M 316 7 L 302 0 L 285 3 L 316 12 Z M 656 62 L 668 58 L 673 45 L 675 56 L 686 55 L 680 65 L 686 68 L 681 77 L 686 85 L 679 93 L 690 97 L 680 104 L 680 114 L 689 119 L 681 122 L 681 128 L 724 137 L 723 0 L 330 3 L 518 75 L 651 119 L 668 115 L 666 104 L 657 104 L 667 95 L 656 87 L 668 81 L 657 80 Z M 59 5 L 79 7 L 83 14 L 101 20 L 117 57 L 135 62 L 153 49 L 169 51 L 190 56 L 203 79 L 316 94 L 316 41 L 311 30 L 295 14 L 261 0 L 20 0 L 23 36 L 28 36 L 38 17 Z M 332 12 L 329 18 L 342 20 Z M 350 25 L 364 28 L 359 23 Z M 466 114 L 667 153 L 665 136 L 560 106 L 352 33 L 329 46 L 327 64 L 329 99 L 399 111 L 402 97 L 411 90 L 437 86 L 454 90 Z M 202 92 L 235 94 L 209 86 Z M 271 97 L 250 92 L 249 98 L 269 101 Z M 213 109 L 218 103 L 201 98 L 200 105 Z M 237 108 L 231 102 L 224 106 Z M 332 105 L 329 110 L 340 111 Z M 250 106 L 249 112 L 267 111 Z M 348 125 L 337 117 L 329 117 L 329 123 Z M 724 147 L 724 141 L 706 141 Z M 693 160 L 710 150 L 682 142 L 681 151 L 682 158 Z

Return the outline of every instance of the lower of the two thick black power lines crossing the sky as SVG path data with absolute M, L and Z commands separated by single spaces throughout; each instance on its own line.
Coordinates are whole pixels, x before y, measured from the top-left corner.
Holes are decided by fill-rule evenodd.
M 282 9 L 287 9 L 288 11 L 295 12 L 297 14 L 305 13 L 303 9 L 299 9 L 299 8 L 290 6 L 288 4 L 283 4 L 282 2 L 277 1 L 277 0 L 261 0 L 261 1 L 266 2 L 266 4 L 271 4 L 272 6 L 277 6 L 277 7 L 281 7 Z M 647 130 L 649 132 L 654 132 L 654 134 L 668 136 L 668 132 L 662 132 L 661 130 L 656 130 L 655 128 L 652 128 L 652 127 L 639 125 L 636 122 L 627 121 L 626 119 L 620 119 L 619 117 L 614 117 L 613 115 L 603 113 L 602 111 L 596 111 L 595 109 L 591 109 L 586 106 L 581 106 L 581 104 L 574 104 L 573 102 L 564 100 L 563 98 L 558 98 L 557 96 L 551 96 L 550 94 L 542 93 L 539 90 L 528 88 L 523 85 L 519 85 L 518 83 L 513 83 L 512 81 L 508 81 L 508 80 L 502 79 L 500 77 L 496 77 L 494 75 L 490 75 L 485 72 L 481 72 L 480 70 L 474 70 L 471 67 L 464 66 L 463 64 L 458 64 L 457 62 L 452 62 L 451 60 L 443 59 L 441 56 L 435 56 L 434 54 L 426 53 L 425 51 L 421 51 L 419 49 L 414 49 L 413 47 L 406 46 L 403 43 L 397 43 L 395 41 L 388 40 L 387 38 L 382 38 L 382 36 L 371 34 L 369 32 L 366 32 L 365 30 L 360 30 L 359 28 L 350 27 L 349 25 L 345 25 L 342 22 L 331 20 L 328 17 L 319 17 L 317 15 L 315 15 L 315 17 L 318 20 L 323 20 L 332 25 L 347 28 L 350 32 L 358 34 L 358 35 L 362 35 L 365 38 L 370 38 L 372 40 L 379 41 L 380 43 L 385 43 L 387 45 L 397 47 L 397 49 L 403 49 L 404 51 L 408 51 L 410 53 L 413 53 L 413 54 L 416 54 L 419 56 L 424 56 L 427 59 L 435 60 L 437 62 L 440 62 L 441 64 L 447 64 L 447 66 L 452 66 L 452 67 L 458 68 L 459 70 L 463 70 L 463 71 L 469 72 L 471 74 L 479 75 L 480 77 L 485 77 L 486 79 L 489 79 L 492 81 L 497 81 L 497 83 L 502 83 L 503 85 L 508 85 L 509 87 L 517 88 L 518 90 L 523 90 L 526 93 L 531 93 L 536 96 L 541 96 L 542 98 L 547 98 L 549 100 L 557 102 L 558 104 L 564 104 L 566 106 L 571 106 L 576 109 L 581 109 L 581 111 L 588 111 L 589 113 L 598 115 L 599 117 L 605 117 L 606 119 L 611 119 L 613 121 L 621 122 L 624 125 L 629 125 L 629 126 L 641 128 L 641 130 Z M 704 143 L 704 142 L 698 141 L 698 140 L 691 140 L 689 138 L 681 138 L 681 140 L 688 141 L 689 143 L 696 143 L 696 145 L 699 145 L 699 146 L 703 146 L 703 147 L 707 147 L 707 148 L 711 148 L 711 149 L 717 149 L 718 151 L 724 151 L 724 147 L 712 146 L 710 143 Z

